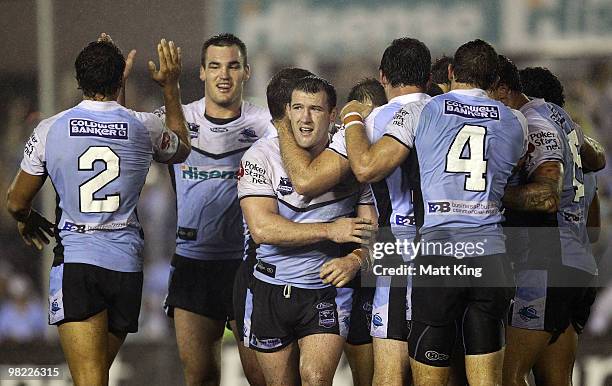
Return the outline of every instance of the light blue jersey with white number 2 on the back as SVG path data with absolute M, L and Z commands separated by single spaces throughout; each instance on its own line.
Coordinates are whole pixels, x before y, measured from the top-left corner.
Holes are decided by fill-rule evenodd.
M 167 161 L 178 137 L 149 113 L 82 101 L 42 121 L 21 169 L 47 173 L 58 196 L 56 258 L 122 272 L 142 271 L 136 204 L 151 160 Z

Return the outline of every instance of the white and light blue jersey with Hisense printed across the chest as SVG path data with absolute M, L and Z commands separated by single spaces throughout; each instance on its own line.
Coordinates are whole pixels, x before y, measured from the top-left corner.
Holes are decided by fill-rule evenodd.
M 191 154 L 171 166 L 176 190 L 176 253 L 198 260 L 241 259 L 242 212 L 236 189 L 244 152 L 276 132 L 267 109 L 243 102 L 240 117 L 215 124 L 204 116 L 204 99 L 183 106 Z M 162 116 L 164 110 L 156 111 Z

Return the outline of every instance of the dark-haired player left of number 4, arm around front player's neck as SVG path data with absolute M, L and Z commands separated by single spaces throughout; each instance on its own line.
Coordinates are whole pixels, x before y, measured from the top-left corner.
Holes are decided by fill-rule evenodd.
M 429 50 L 418 40 L 396 39 L 386 48 L 379 69 L 381 84 L 389 103 L 374 109 L 366 120 L 366 141 L 386 141 L 382 135 L 393 114 L 406 103 L 428 99 L 424 90 L 429 81 L 430 67 Z M 369 105 L 364 106 L 372 108 Z M 377 193 L 376 205 L 380 214 L 379 225 L 390 226 L 393 235 L 398 239 L 406 239 L 408 242 L 413 240 L 416 228 L 412 191 L 407 175 L 402 172 L 399 163 L 386 174 L 369 179 L 369 176 L 362 174 L 359 160 L 351 159 L 347 154 L 344 130 L 334 136 L 329 151 L 324 151 L 315 159 L 296 146 L 290 135 L 285 134 L 279 132 L 283 161 L 291 178 L 295 176 L 300 181 L 303 194 L 314 194 L 339 183 L 347 175 L 350 176 L 349 171 L 355 162 L 353 172 L 361 181 L 373 182 L 387 177 L 381 184 L 374 184 L 374 191 Z M 392 146 L 395 144 L 396 142 L 392 141 Z M 372 153 L 372 158 L 377 156 Z M 380 190 L 386 192 L 380 194 Z M 406 285 L 406 278 L 402 277 L 377 278 L 371 325 L 374 349 L 373 383 L 376 385 L 401 385 L 408 379 L 406 318 L 409 317 L 409 299 Z

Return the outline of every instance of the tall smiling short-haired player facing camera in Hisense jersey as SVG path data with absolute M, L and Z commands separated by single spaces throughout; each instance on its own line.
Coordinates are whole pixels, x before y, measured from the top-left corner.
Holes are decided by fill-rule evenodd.
M 209 38 L 201 59 L 204 98 L 183 105 L 193 151 L 170 168 L 178 220 L 165 307 L 174 317 L 187 385 L 219 384 L 226 323 L 242 339 L 232 301 L 244 252 L 236 178 L 244 152 L 274 130 L 266 109 L 242 99 L 250 67 L 239 38 Z M 248 381 L 262 384 L 254 353 L 242 344 L 238 349 Z

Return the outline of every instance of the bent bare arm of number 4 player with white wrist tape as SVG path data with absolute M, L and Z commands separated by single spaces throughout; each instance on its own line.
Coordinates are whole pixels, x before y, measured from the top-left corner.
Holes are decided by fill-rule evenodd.
M 346 130 L 349 163 L 361 183 L 382 180 L 404 162 L 410 153 L 410 148 L 395 137 L 384 136 L 376 143 L 370 144 L 364 124 L 364 119 L 370 111 L 370 106 L 351 101 L 340 113 Z

